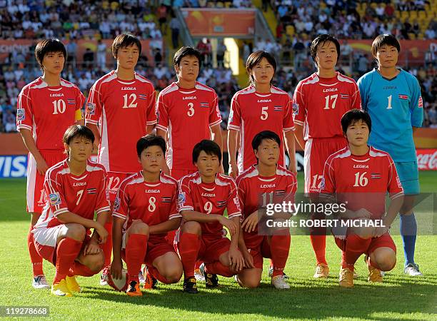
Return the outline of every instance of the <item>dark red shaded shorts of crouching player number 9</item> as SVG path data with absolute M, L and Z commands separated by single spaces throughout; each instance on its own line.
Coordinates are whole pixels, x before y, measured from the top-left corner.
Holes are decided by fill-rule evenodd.
M 218 261 L 220 255 L 228 252 L 231 247 L 231 240 L 223 235 L 202 235 L 200 245 L 197 260 L 204 263 L 212 263 Z M 179 243 L 175 243 L 175 247 L 179 252 Z

